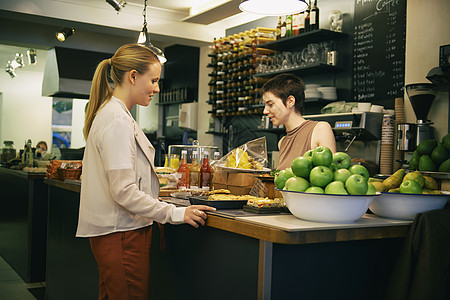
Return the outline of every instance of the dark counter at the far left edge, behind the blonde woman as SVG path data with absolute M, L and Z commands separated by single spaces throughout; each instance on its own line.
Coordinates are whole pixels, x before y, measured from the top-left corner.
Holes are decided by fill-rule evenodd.
M 44 174 L 0 167 L 0 254 L 25 282 L 45 281 Z

